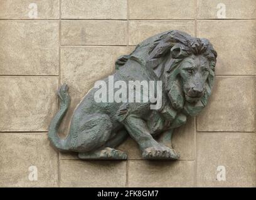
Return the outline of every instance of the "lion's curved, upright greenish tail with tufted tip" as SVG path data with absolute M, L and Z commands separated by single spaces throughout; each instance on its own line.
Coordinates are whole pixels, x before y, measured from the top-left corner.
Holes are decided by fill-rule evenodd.
M 60 110 L 51 120 L 48 138 L 50 139 L 51 144 L 53 144 L 56 149 L 60 151 L 67 151 L 69 135 L 67 139 L 60 139 L 58 136 L 58 128 L 60 127 L 61 120 L 67 113 L 68 107 L 70 106 L 70 96 L 68 95 L 67 84 L 63 84 L 60 89 L 58 89 L 58 98 L 60 100 Z

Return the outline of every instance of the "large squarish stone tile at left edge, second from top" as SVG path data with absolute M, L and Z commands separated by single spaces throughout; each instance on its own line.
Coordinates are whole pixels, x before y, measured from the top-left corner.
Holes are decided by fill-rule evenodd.
M 59 66 L 57 21 L 0 21 L 1 75 L 55 75 Z

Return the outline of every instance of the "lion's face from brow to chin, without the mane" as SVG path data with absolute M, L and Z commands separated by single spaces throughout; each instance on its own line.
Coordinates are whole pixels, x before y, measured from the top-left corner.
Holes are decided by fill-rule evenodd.
M 186 101 L 192 103 L 200 100 L 205 93 L 206 80 L 209 76 L 208 59 L 204 56 L 191 55 L 181 61 L 179 70 Z

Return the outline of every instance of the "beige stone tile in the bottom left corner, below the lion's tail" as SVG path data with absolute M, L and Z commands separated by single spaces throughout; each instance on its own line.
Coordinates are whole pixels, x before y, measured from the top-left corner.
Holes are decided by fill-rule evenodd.
M 0 146 L 0 187 L 58 186 L 58 156 L 46 134 L 1 133 Z M 37 181 L 29 180 L 31 166 Z

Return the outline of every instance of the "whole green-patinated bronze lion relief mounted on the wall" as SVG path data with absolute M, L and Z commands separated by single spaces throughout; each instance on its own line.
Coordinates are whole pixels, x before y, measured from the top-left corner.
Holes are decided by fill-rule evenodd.
M 179 159 L 166 146 L 175 128 L 205 108 L 213 88 L 217 53 L 210 41 L 181 31 L 166 31 L 142 41 L 117 59 L 114 81 L 162 81 L 162 106 L 147 103 L 95 103 L 92 88 L 75 109 L 67 138 L 58 128 L 70 105 L 68 86 L 58 89 L 60 110 L 51 121 L 48 138 L 59 151 L 80 159 L 127 159 L 117 148 L 131 136 L 144 159 Z M 104 81 L 107 83 L 108 79 Z

